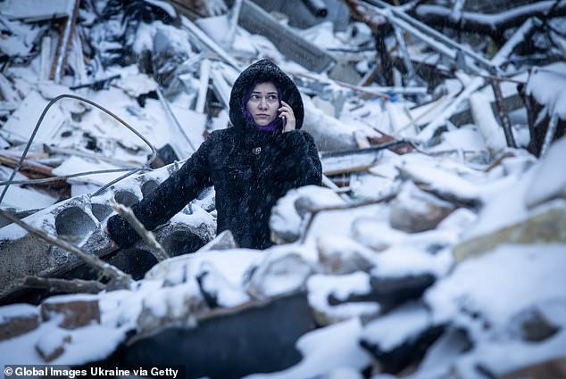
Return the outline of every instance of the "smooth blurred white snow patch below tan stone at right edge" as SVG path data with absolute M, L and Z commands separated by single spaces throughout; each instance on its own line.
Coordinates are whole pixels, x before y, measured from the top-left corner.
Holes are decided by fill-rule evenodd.
M 521 309 L 543 301 L 566 301 L 565 249 L 564 244 L 500 246 L 462 262 L 431 287 L 425 299 L 436 322 L 474 323 L 468 317 L 479 312 L 492 329 L 504 329 Z

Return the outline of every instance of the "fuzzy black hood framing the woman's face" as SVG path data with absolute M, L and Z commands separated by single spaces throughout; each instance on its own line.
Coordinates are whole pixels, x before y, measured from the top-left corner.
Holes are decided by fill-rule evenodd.
M 254 84 L 273 82 L 281 93 L 282 100 L 288 103 L 295 113 L 295 128 L 303 127 L 304 107 L 301 94 L 295 83 L 283 70 L 269 59 L 262 59 L 250 65 L 237 77 L 230 94 L 230 121 L 236 128 L 246 127 L 246 117 L 242 102 Z

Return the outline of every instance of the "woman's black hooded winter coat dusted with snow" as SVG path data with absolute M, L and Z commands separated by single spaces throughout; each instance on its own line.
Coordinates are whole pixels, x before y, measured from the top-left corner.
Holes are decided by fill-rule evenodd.
M 243 102 L 252 86 L 271 81 L 295 113 L 295 130 L 265 132 L 246 118 Z M 176 172 L 132 207 L 148 230 L 162 225 L 206 186 L 216 192 L 217 233 L 229 229 L 241 247 L 271 246 L 269 219 L 275 202 L 292 188 L 320 185 L 322 169 L 312 136 L 303 130 L 304 107 L 291 78 L 269 60 L 255 62 L 237 78 L 230 94 L 232 128 L 216 130 Z M 138 236 L 119 215 L 108 233 L 121 247 Z

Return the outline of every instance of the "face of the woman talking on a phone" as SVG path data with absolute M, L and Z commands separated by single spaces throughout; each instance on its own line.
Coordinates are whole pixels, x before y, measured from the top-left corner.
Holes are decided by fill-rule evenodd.
M 260 127 L 270 125 L 279 110 L 277 87 L 271 82 L 255 85 L 246 103 L 246 110 L 250 112 L 256 125 Z

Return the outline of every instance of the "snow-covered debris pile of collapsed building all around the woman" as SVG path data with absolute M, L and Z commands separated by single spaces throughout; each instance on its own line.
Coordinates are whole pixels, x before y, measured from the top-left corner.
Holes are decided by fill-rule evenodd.
M 263 3 L 0 3 L 0 363 L 566 375 L 566 4 Z M 215 235 L 212 189 L 116 250 L 266 57 L 324 186 L 266 251 Z

